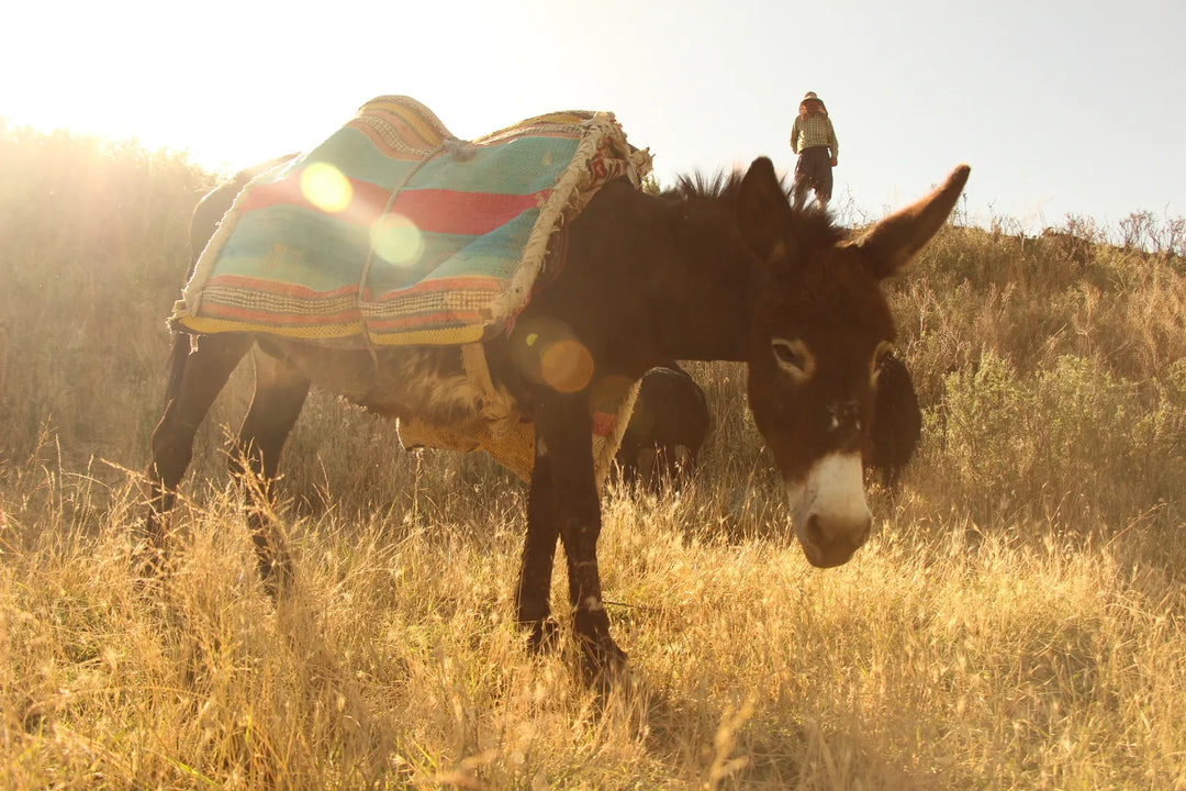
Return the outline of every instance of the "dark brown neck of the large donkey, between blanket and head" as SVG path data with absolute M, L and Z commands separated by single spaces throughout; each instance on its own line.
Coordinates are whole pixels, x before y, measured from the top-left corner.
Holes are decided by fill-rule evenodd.
M 567 262 L 529 312 L 560 317 L 607 370 L 746 358 L 757 263 L 727 198 L 606 185 L 572 224 Z

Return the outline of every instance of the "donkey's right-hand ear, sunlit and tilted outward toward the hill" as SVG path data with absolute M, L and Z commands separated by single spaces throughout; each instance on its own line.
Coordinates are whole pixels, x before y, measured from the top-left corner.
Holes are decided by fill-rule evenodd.
M 938 190 L 890 215 L 852 242 L 876 278 L 897 273 L 931 241 L 959 199 L 970 172 L 970 167 L 961 165 Z

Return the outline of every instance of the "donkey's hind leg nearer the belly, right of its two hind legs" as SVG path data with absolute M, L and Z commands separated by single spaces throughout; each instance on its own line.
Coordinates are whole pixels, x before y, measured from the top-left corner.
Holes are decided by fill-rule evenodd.
M 310 379 L 259 350 L 253 357 L 255 393 L 229 466 L 232 474 L 244 478 L 247 518 L 260 562 L 260 576 L 268 595 L 275 598 L 292 581 L 292 557 L 272 508 L 276 471 L 285 440 L 308 395 Z M 244 474 L 248 472 L 250 474 Z

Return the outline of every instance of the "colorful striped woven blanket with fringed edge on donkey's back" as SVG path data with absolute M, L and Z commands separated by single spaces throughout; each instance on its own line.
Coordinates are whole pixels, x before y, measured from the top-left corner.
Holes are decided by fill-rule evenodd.
M 173 326 L 356 347 L 490 338 L 527 305 L 554 234 L 604 184 L 649 170 L 608 113 L 466 142 L 382 96 L 238 194 Z

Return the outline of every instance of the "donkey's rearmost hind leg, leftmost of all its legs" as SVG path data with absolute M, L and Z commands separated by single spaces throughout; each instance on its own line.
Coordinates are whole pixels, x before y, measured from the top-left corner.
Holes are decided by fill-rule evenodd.
M 193 436 L 210 412 L 251 338 L 238 334 L 204 336 L 190 347 L 189 336 L 173 340 L 172 374 L 166 391 L 165 414 L 152 433 L 148 464 L 148 513 L 145 517 L 142 572 L 155 575 L 164 562 L 165 513 L 173 508 L 177 485 L 193 455 Z

